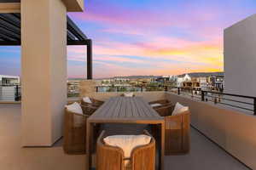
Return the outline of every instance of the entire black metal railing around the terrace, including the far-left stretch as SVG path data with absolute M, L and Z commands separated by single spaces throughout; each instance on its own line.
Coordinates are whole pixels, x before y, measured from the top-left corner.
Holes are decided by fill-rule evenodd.
M 1 85 L 0 101 L 20 101 L 20 85 Z M 248 111 L 256 116 L 256 97 L 238 94 L 225 94 L 222 92 L 206 91 L 200 88 L 173 88 L 170 86 L 143 86 L 143 87 L 113 87 L 97 86 L 97 93 L 108 92 L 152 92 L 165 91 L 178 95 L 186 95 L 192 99 L 198 99 L 203 102 L 212 102 L 215 105 L 226 105 L 241 111 Z M 80 92 L 67 91 L 67 97 L 79 97 Z

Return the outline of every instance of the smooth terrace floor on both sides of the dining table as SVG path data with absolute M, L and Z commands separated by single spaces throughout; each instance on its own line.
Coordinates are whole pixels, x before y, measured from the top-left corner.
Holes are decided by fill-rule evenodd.
M 85 156 L 65 155 L 61 148 L 61 141 L 50 148 L 21 148 L 20 138 L 20 105 L 0 105 L 0 169 L 85 169 Z M 248 169 L 193 128 L 189 155 L 166 156 L 165 159 L 166 170 Z

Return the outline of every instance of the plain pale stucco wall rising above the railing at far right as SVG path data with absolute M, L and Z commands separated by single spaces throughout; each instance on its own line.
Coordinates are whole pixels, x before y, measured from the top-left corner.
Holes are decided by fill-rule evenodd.
M 256 96 L 256 14 L 224 30 L 226 93 Z

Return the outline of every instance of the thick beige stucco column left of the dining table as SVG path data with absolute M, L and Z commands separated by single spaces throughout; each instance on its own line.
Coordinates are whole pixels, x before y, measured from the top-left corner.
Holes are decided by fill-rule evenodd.
M 21 1 L 22 146 L 62 135 L 67 103 L 67 8 L 61 0 Z

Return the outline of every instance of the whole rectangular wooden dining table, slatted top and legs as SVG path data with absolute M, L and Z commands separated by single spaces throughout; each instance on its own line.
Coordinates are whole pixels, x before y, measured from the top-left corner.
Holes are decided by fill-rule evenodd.
M 142 97 L 112 97 L 87 119 L 86 128 L 86 169 L 92 164 L 93 127 L 96 123 L 135 123 L 160 126 L 159 169 L 164 170 L 165 119 L 148 105 Z

